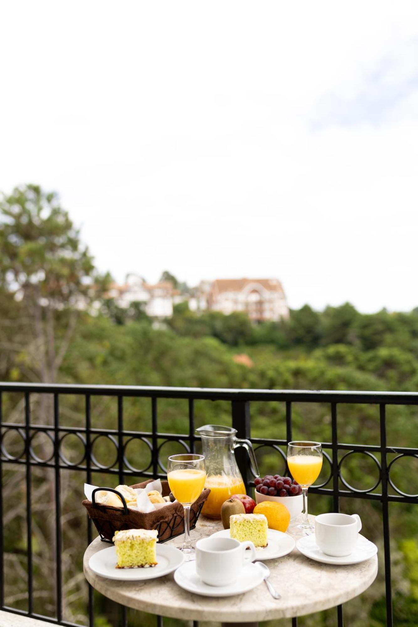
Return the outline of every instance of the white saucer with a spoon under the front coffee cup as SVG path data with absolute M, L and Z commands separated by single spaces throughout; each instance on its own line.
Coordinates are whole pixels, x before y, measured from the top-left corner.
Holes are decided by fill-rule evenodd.
M 185 562 L 174 572 L 174 581 L 183 589 L 203 596 L 233 596 L 243 594 L 258 586 L 264 579 L 264 572 L 256 564 L 246 564 L 240 570 L 237 581 L 228 586 L 208 586 L 196 574 L 196 562 Z

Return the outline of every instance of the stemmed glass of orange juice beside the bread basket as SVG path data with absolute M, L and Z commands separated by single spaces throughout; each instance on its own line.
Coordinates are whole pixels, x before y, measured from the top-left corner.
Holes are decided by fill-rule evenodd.
M 190 505 L 200 497 L 205 487 L 205 455 L 181 453 L 169 456 L 167 479 L 174 497 L 185 508 L 185 542 L 180 551 L 187 559 L 194 559 L 195 547 L 190 540 Z

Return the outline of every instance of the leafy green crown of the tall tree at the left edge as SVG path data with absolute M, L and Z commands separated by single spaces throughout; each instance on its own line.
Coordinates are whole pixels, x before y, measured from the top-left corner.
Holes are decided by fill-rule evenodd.
M 76 306 L 92 292 L 94 265 L 58 196 L 15 187 L 0 201 L 0 283 L 19 298 Z M 94 286 L 96 287 L 96 286 Z

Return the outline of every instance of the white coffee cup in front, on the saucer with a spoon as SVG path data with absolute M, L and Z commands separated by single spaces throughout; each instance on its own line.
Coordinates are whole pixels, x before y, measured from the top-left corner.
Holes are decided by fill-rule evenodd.
M 202 538 L 196 542 L 196 573 L 209 586 L 227 586 L 237 581 L 242 567 L 254 561 L 255 557 L 257 554 L 252 542 L 238 542 L 233 538 Z

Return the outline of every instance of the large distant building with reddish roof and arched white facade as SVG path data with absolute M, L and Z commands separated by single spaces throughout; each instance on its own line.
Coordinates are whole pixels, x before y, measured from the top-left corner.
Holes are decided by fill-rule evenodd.
M 254 322 L 289 317 L 281 282 L 269 278 L 217 279 L 210 287 L 208 308 L 223 314 L 245 312 Z

